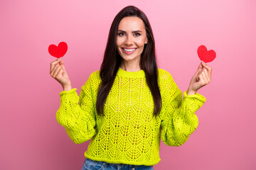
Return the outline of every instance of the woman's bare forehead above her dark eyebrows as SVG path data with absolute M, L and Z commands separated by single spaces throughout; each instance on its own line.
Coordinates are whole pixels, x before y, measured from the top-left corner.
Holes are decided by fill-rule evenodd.
M 118 26 L 119 30 L 142 30 L 145 31 L 144 22 L 137 16 L 126 16 L 122 18 Z

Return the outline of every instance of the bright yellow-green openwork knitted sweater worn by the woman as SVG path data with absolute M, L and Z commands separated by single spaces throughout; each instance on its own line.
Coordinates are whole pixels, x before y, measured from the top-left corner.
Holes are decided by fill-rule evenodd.
M 162 98 L 160 114 L 153 116 L 154 99 L 143 70 L 126 72 L 119 68 L 105 102 L 105 116 L 97 115 L 96 100 L 100 71 L 93 72 L 76 90 L 60 92 L 56 118 L 73 142 L 90 140 L 85 157 L 111 164 L 155 165 L 161 161 L 161 140 L 169 146 L 180 146 L 198 126 L 195 112 L 206 98 L 187 95 L 178 89 L 173 77 L 159 69 Z

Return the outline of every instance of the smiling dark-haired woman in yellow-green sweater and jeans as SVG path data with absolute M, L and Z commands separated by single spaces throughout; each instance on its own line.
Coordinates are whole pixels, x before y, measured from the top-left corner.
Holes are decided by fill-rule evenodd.
M 160 137 L 180 146 L 196 130 L 195 112 L 206 101 L 196 91 L 211 72 L 201 63 L 182 98 L 171 74 L 157 68 L 148 19 L 127 6 L 112 22 L 100 71 L 79 96 L 63 60 L 51 62 L 50 75 L 63 86 L 56 118 L 73 142 L 92 139 L 82 169 L 153 169 L 161 160 Z

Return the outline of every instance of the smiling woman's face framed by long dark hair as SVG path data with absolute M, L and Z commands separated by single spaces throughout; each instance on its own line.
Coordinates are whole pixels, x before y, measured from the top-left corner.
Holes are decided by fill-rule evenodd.
M 117 31 L 117 50 L 123 62 L 139 63 L 147 43 L 144 22 L 137 16 L 122 18 Z

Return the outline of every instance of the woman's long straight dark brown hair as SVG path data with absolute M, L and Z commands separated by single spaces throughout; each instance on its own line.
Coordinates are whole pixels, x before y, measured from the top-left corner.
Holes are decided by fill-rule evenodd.
M 105 49 L 103 62 L 100 67 L 100 78 L 102 79 L 96 102 L 96 110 L 98 115 L 104 115 L 103 108 L 110 89 L 114 83 L 117 71 L 122 61 L 122 57 L 117 52 L 117 30 L 120 21 L 126 16 L 137 16 L 144 22 L 146 29 L 147 44 L 144 45 L 144 50 L 141 55 L 140 67 L 146 75 L 146 83 L 149 86 L 151 94 L 154 98 L 154 115 L 159 115 L 161 111 L 161 94 L 158 86 L 158 68 L 156 64 L 156 52 L 153 32 L 145 13 L 135 6 L 127 6 L 123 8 L 110 27 L 110 33 L 107 39 L 107 47 Z

